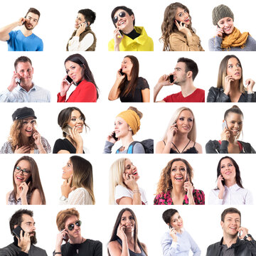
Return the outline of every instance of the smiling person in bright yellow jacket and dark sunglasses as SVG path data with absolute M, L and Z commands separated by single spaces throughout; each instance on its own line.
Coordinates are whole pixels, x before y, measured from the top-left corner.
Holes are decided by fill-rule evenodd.
M 146 34 L 144 27 L 134 26 L 132 9 L 117 6 L 112 11 L 111 18 L 116 29 L 114 38 L 108 44 L 109 50 L 154 50 L 153 40 Z

